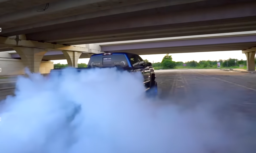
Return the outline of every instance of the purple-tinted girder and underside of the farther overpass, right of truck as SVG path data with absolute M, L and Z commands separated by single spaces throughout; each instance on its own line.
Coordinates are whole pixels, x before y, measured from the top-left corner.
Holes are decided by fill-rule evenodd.
M 103 45 L 104 52 L 128 52 L 138 55 L 237 51 L 256 46 L 256 35 L 226 36 L 204 39 L 166 40 L 159 42 Z

